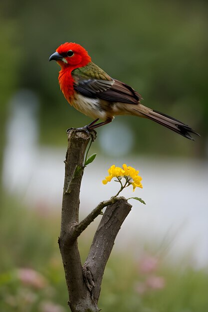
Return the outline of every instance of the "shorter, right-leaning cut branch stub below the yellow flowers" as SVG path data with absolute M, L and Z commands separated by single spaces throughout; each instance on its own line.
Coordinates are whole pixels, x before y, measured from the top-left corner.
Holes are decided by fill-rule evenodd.
M 124 197 L 109 205 L 95 233 L 87 260 L 83 266 L 86 284 L 93 301 L 98 302 L 101 282 L 106 263 L 114 245 L 115 238 L 132 206 Z

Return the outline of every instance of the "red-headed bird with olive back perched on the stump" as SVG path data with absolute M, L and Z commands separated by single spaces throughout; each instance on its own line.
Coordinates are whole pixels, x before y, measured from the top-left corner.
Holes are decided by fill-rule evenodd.
M 190 133 L 197 134 L 181 121 L 142 105 L 137 91 L 111 78 L 91 61 L 81 45 L 65 42 L 50 56 L 51 60 L 61 66 L 58 81 L 66 100 L 79 112 L 95 119 L 86 127 L 106 125 L 116 115 L 133 115 L 151 119 L 190 140 L 193 140 Z M 102 122 L 96 124 L 99 119 Z

